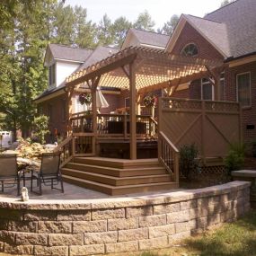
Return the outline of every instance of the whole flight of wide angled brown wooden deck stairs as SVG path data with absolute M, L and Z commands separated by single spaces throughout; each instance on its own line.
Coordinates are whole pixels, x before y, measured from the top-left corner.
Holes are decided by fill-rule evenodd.
M 75 157 L 61 171 L 66 182 L 113 196 L 178 188 L 156 158 Z

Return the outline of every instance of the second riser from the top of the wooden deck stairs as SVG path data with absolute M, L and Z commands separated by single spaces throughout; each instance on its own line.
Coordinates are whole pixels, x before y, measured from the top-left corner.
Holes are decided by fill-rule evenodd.
M 94 172 L 104 175 L 110 175 L 113 177 L 134 177 L 134 176 L 145 176 L 145 175 L 157 175 L 157 174 L 165 174 L 166 171 L 163 167 L 155 167 L 155 169 L 137 169 L 137 170 L 107 170 L 104 168 L 101 168 L 100 166 L 88 166 L 88 165 L 76 165 L 73 163 L 67 163 L 66 168 L 68 169 L 74 169 L 84 172 Z

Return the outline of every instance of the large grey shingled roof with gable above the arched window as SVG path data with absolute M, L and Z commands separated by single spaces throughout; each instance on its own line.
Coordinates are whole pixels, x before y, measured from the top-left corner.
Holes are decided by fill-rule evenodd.
M 181 14 L 166 50 L 173 49 L 186 22 L 211 43 L 225 58 L 256 51 L 256 1 L 236 0 L 208 13 L 204 18 Z

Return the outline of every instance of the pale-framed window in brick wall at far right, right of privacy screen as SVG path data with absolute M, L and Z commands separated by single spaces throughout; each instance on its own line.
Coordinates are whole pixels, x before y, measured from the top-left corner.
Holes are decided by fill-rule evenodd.
M 251 106 L 251 73 L 236 75 L 237 101 L 242 107 Z

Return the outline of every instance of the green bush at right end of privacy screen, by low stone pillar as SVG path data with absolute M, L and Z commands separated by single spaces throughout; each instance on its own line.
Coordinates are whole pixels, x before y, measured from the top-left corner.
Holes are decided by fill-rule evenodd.
M 230 174 L 232 171 L 241 170 L 244 164 L 245 146 L 234 144 L 230 146 L 228 154 L 225 156 L 225 168 Z

